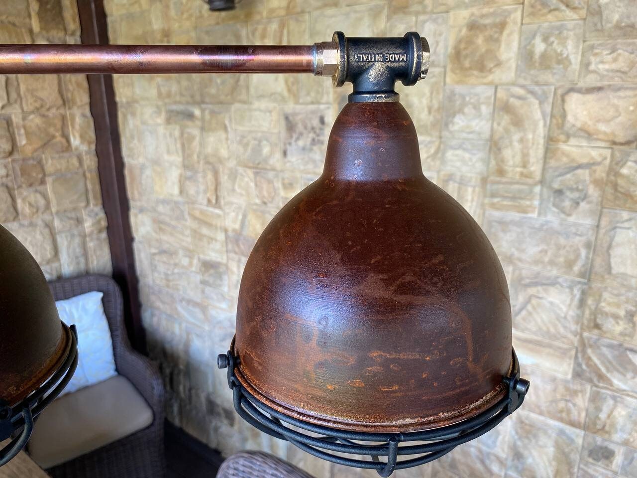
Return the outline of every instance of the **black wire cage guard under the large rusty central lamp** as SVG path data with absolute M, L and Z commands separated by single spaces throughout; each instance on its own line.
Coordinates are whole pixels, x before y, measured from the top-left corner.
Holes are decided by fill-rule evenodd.
M 233 391 L 234 409 L 248 423 L 271 437 L 287 440 L 301 450 L 338 465 L 376 470 L 382 477 L 389 477 L 394 470 L 417 467 L 440 458 L 458 445 L 480 437 L 517 410 L 529 390 L 529 381 L 520 379 L 520 368 L 515 350 L 512 350 L 512 372 L 503 377 L 507 394 L 489 409 L 459 423 L 408 433 L 368 433 L 328 428 L 289 417 L 260 402 L 237 379 L 234 368 L 238 357 L 228 351 L 217 358 L 219 368 L 227 368 L 228 386 Z M 289 425 L 318 437 L 293 430 Z M 364 444 L 359 442 L 380 442 Z M 403 445 L 406 442 L 428 442 Z M 327 450 L 327 451 L 326 451 Z M 370 460 L 358 460 L 328 453 L 371 456 Z M 421 455 L 417 458 L 398 460 L 399 456 Z M 379 457 L 387 456 L 387 461 Z

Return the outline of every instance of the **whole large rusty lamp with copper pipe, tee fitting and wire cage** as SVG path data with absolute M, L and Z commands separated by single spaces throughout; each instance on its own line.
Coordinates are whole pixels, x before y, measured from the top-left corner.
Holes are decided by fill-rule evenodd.
M 394 91 L 428 69 L 413 32 L 287 47 L 0 46 L 0 73 L 313 73 L 354 85 L 322 175 L 250 254 L 218 366 L 248 423 L 383 477 L 491 430 L 529 388 L 501 264 L 471 215 L 424 177 Z

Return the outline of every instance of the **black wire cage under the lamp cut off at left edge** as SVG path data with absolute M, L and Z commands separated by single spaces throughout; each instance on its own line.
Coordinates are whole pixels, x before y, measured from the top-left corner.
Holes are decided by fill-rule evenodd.
M 66 326 L 65 326 L 66 327 Z M 70 327 L 71 345 L 62 366 L 31 395 L 13 406 L 0 401 L 0 442 L 14 437 L 0 449 L 0 467 L 8 463 L 25 447 L 38 415 L 57 398 L 69 383 L 78 365 L 77 331 Z

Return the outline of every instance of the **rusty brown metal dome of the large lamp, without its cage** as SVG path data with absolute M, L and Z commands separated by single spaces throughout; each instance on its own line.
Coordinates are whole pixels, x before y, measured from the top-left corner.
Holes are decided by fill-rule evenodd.
M 423 430 L 505 396 L 511 335 L 496 253 L 422 174 L 408 113 L 348 103 L 322 176 L 248 259 L 233 351 L 241 384 L 312 423 Z

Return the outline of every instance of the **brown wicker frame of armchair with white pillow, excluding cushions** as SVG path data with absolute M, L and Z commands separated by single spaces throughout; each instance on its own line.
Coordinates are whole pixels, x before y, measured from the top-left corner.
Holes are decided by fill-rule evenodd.
M 104 294 L 104 313 L 113 340 L 117 372 L 128 379 L 153 410 L 153 422 L 117 442 L 47 470 L 53 478 L 161 478 L 164 463 L 164 384 L 157 366 L 134 351 L 126 335 L 122 293 L 113 279 L 87 275 L 50 283 L 55 300 L 89 291 Z M 82 338 L 80 337 L 80 340 Z

